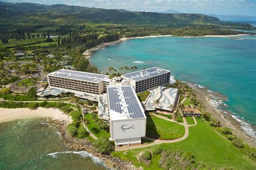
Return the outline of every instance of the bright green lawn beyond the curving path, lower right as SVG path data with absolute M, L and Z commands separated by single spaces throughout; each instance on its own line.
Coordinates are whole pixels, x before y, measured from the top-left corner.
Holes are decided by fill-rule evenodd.
M 242 154 L 242 152 L 235 148 L 230 141 L 225 139 L 220 133 L 208 125 L 204 119 L 197 119 L 197 122 L 198 124 L 196 126 L 189 128 L 187 139 L 179 141 L 178 143 L 161 144 L 160 146 L 163 148 L 171 148 L 173 150 L 179 149 L 183 152 L 191 152 L 196 161 L 203 162 L 210 168 L 255 169 L 255 162 Z M 140 152 L 153 147 L 156 147 L 156 145 L 132 149 L 126 154 L 123 154 L 123 152 L 113 154 L 131 160 L 135 162 L 135 165 L 139 166 L 140 163 L 134 158 L 136 158 Z M 158 169 L 157 160 L 159 160 L 159 158 L 153 157 L 149 166 L 142 166 L 146 167 L 145 169 L 151 167 L 156 167 L 156 169 Z

